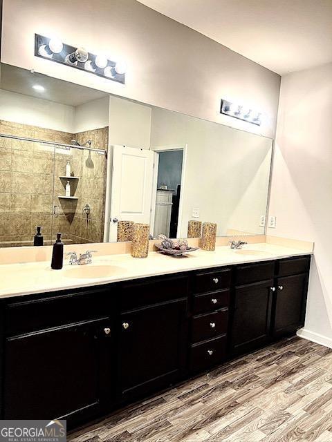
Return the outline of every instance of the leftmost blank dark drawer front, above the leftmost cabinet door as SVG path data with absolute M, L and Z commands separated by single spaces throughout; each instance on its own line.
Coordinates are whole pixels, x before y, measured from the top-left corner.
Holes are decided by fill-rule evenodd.
M 81 294 L 58 294 L 35 300 L 9 302 L 6 334 L 13 336 L 107 316 L 111 310 L 107 289 Z

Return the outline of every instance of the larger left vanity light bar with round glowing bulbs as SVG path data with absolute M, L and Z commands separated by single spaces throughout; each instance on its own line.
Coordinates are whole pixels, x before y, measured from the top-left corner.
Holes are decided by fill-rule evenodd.
M 35 56 L 65 64 L 91 74 L 124 84 L 127 66 L 124 61 L 112 61 L 104 54 L 92 54 L 85 48 L 70 46 L 59 39 L 35 34 Z

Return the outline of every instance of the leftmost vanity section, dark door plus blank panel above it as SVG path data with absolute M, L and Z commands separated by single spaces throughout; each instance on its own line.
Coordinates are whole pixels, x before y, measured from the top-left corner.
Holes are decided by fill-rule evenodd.
M 107 296 L 92 289 L 3 303 L 3 419 L 75 425 L 109 408 L 115 395 Z

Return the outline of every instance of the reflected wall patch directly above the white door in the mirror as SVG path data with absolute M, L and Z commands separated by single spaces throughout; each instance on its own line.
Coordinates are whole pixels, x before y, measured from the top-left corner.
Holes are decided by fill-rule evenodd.
M 109 97 L 109 144 L 148 149 L 151 107 Z

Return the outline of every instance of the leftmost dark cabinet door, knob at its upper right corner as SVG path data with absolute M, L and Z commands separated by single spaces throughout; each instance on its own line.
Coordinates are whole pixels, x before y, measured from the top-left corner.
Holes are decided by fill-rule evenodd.
M 109 320 L 6 339 L 4 419 L 69 419 L 100 412 L 109 396 Z M 105 333 L 106 332 L 106 333 Z

